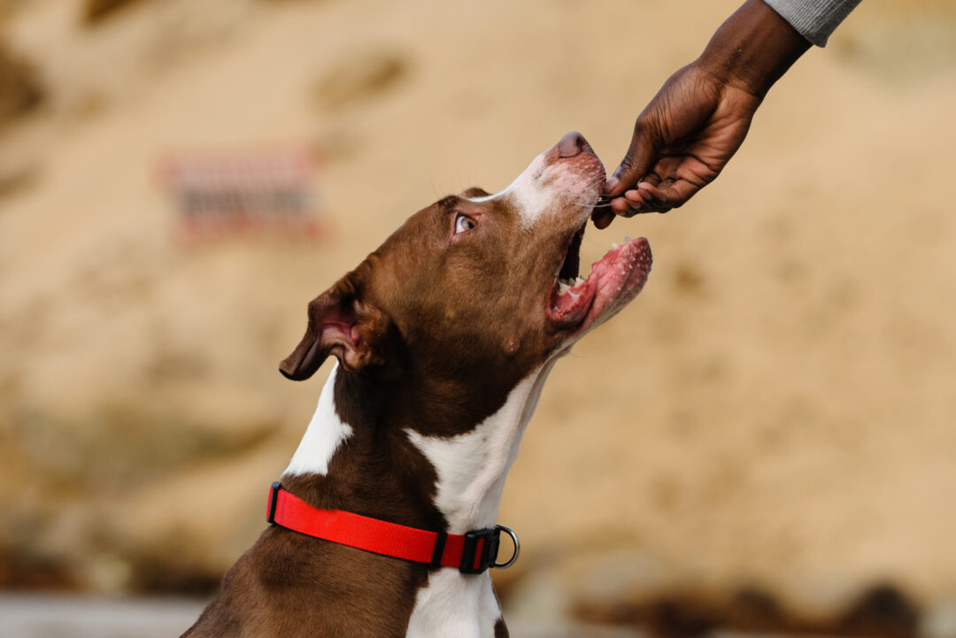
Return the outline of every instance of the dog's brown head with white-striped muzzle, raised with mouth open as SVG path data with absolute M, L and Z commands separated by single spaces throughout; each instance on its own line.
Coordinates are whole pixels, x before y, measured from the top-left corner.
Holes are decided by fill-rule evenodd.
M 618 312 L 647 279 L 643 239 L 613 248 L 578 278 L 604 177 L 588 143 L 570 133 L 504 191 L 472 188 L 424 208 L 309 304 L 305 336 L 280 371 L 306 379 L 332 354 L 349 373 L 513 385 Z

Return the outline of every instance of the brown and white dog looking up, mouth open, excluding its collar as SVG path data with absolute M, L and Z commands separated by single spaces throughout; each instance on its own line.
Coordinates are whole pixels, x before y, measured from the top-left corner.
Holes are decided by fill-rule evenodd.
M 289 493 L 421 530 L 493 528 L 554 362 L 647 279 L 637 239 L 586 280 L 578 249 L 604 167 L 569 133 L 504 191 L 419 211 L 309 304 L 280 370 L 338 359 L 282 475 Z M 493 558 L 493 557 L 492 557 Z M 487 571 L 429 569 L 273 525 L 184 636 L 507 636 Z

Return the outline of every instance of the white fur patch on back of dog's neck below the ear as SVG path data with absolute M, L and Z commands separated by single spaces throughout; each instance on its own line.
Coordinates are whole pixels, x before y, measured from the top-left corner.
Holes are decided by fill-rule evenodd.
M 329 373 L 329 379 L 318 396 L 318 405 L 309 427 L 302 436 L 298 448 L 282 476 L 329 473 L 329 461 L 338 446 L 349 436 L 352 427 L 343 423 L 336 413 L 335 387 L 338 363 Z

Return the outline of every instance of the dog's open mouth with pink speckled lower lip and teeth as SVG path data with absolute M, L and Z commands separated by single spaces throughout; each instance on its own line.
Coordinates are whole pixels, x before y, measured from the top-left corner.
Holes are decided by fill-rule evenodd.
M 572 238 L 548 302 L 548 317 L 562 329 L 588 330 L 622 308 L 641 292 L 651 269 L 650 245 L 639 237 L 612 245 L 587 277 L 580 277 L 586 226 L 585 222 Z

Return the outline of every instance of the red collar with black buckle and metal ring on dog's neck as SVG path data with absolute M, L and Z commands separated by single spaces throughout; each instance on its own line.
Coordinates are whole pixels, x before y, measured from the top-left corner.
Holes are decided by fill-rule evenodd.
M 457 567 L 463 574 L 480 574 L 489 567 L 510 567 L 518 560 L 518 537 L 504 525 L 464 535 L 429 532 L 351 512 L 313 507 L 284 490 L 278 481 L 269 490 L 266 521 L 316 539 L 427 564 L 429 569 Z M 514 555 L 507 563 L 496 563 L 502 531 L 511 536 Z

